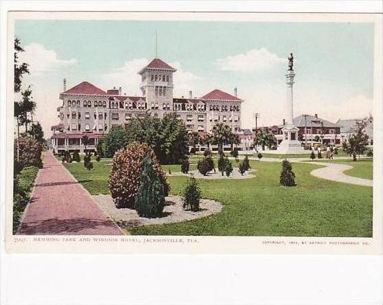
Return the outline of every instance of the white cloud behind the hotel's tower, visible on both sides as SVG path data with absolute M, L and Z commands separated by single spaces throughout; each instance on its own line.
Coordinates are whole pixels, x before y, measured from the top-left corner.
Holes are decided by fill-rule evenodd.
M 124 62 L 122 67 L 113 69 L 107 74 L 102 74 L 98 83 L 109 89 L 113 87 L 122 87 L 127 95 L 140 95 L 141 77 L 138 71 L 149 64 L 147 58 L 135 58 Z M 177 69 L 174 74 L 174 95 L 186 95 L 188 91 L 196 87 L 195 81 L 199 80 L 190 71 L 185 71 L 179 62 L 168 63 L 171 67 Z

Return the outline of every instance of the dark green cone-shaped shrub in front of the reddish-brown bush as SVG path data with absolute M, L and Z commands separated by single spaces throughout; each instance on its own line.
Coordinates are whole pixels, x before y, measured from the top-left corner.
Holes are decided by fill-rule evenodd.
M 134 208 L 141 217 L 160 216 L 165 206 L 164 185 L 153 168 L 151 153 L 142 161 L 144 170 L 140 176 L 140 187 L 135 194 Z

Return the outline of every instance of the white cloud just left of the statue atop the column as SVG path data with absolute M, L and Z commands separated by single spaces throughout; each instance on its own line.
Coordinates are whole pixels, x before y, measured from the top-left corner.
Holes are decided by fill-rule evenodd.
M 280 58 L 265 47 L 251 49 L 248 52 L 227 56 L 215 60 L 215 65 L 223 71 L 254 72 L 286 64 L 285 58 Z

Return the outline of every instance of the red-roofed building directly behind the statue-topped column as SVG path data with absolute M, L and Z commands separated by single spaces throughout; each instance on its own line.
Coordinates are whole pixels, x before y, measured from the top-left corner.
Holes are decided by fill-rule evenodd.
M 299 128 L 298 140 L 302 143 L 340 144 L 340 126 L 318 117 L 318 114 L 294 117 L 294 125 Z M 285 126 L 285 120 L 281 125 L 270 127 L 278 144 L 282 142 L 284 137 L 283 126 Z

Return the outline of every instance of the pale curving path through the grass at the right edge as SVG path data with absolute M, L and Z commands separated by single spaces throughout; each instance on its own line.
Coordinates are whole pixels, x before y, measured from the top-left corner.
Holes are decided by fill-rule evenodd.
M 309 164 L 326 166 L 325 168 L 317 168 L 316 170 L 311 170 L 310 174 L 315 177 L 355 185 L 373 186 L 373 180 L 351 177 L 347 174 L 343 174 L 344 170 L 351 170 L 351 168 L 353 168 L 352 166 L 347 166 L 340 163 L 325 162 L 310 162 Z

